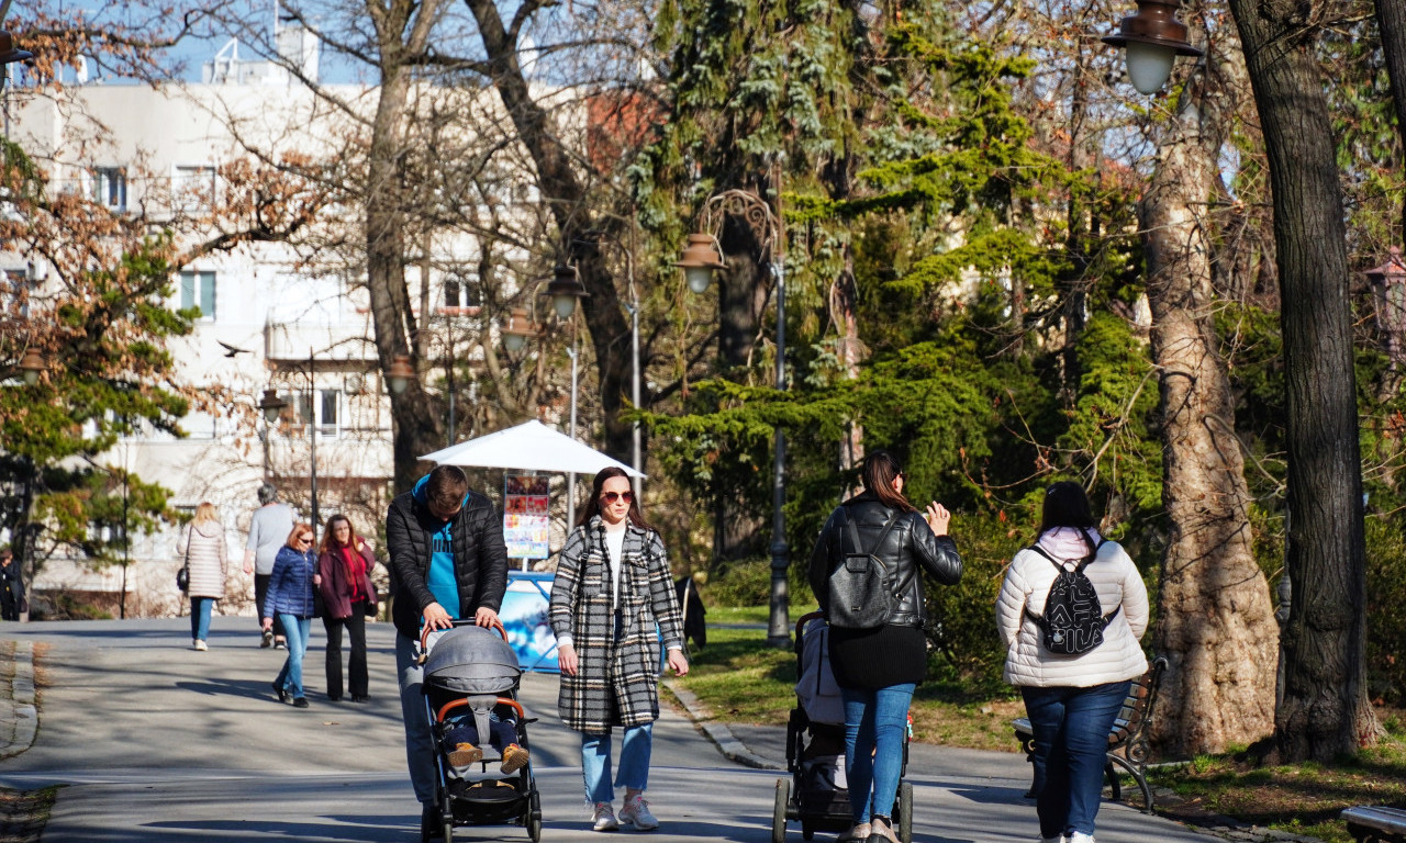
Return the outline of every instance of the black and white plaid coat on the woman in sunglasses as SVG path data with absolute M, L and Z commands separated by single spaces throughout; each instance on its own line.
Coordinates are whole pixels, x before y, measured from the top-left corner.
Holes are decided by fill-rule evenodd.
M 567 537 L 551 587 L 551 628 L 571 635 L 576 676 L 561 677 L 557 708 L 567 726 L 592 735 L 638 726 L 659 717 L 659 635 L 683 648 L 683 624 L 664 541 L 654 530 L 626 527 L 620 551 L 624 635 L 613 641 L 610 552 L 599 516 Z

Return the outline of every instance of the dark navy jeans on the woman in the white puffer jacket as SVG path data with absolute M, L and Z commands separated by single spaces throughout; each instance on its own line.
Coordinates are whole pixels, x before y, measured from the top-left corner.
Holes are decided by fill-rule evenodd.
M 1035 735 L 1035 764 L 1045 770 L 1043 785 L 1035 794 L 1042 837 L 1094 835 L 1104 798 L 1108 732 L 1130 684 L 1123 680 L 1088 688 L 1021 688 Z

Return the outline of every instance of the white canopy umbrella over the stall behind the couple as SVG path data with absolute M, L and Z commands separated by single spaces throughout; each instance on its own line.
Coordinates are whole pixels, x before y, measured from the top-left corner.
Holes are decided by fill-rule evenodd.
M 517 471 L 546 471 L 557 473 L 595 475 L 606 466 L 624 469 L 631 478 L 644 475 L 619 459 L 612 459 L 591 445 L 583 445 L 564 433 L 547 427 L 536 419 L 517 427 L 489 433 L 478 438 L 426 454 L 439 465 L 468 465 L 477 468 L 509 468 Z

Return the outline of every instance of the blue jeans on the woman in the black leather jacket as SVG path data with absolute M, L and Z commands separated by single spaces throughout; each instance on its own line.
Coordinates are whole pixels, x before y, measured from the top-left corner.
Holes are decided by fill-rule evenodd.
M 912 683 L 886 688 L 839 688 L 845 701 L 845 774 L 855 825 L 893 816 L 903 776 L 903 740 L 908 731 Z

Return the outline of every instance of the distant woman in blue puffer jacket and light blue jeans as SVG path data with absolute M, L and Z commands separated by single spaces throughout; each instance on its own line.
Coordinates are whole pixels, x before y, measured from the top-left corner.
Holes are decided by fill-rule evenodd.
M 318 586 L 318 554 L 312 542 L 312 527 L 292 527 L 287 544 L 274 556 L 263 607 L 263 628 L 273 629 L 273 621 L 278 618 L 288 639 L 288 658 L 273 680 L 273 690 L 280 702 L 287 702 L 291 695 L 298 708 L 308 707 L 308 694 L 302 687 L 302 658 L 308 652 L 308 636 L 312 635 L 312 589 Z

